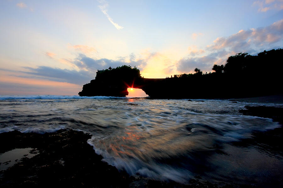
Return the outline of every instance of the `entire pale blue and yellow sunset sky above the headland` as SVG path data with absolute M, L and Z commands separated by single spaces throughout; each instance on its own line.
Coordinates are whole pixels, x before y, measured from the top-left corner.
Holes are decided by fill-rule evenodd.
M 283 0 L 1 0 L 0 95 L 78 95 L 97 70 L 212 71 L 283 48 Z

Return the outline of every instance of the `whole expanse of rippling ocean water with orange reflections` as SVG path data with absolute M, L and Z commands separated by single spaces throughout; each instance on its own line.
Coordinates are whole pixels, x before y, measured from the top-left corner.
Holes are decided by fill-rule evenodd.
M 88 143 L 103 161 L 157 180 L 264 182 L 278 180 L 282 156 L 253 145 L 255 132 L 280 127 L 269 118 L 243 116 L 244 106 L 278 106 L 229 100 L 127 97 L 0 96 L 0 133 L 46 133 L 62 128 L 91 133 Z M 282 180 L 282 178 L 281 178 Z

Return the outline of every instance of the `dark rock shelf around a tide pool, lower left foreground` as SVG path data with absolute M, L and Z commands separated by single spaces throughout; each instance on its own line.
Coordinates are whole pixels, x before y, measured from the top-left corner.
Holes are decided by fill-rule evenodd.
M 125 187 L 129 176 L 102 162 L 87 144 L 90 135 L 74 130 L 36 134 L 1 133 L 0 153 L 15 148 L 33 148 L 37 155 L 1 171 L 0 186 L 22 187 Z M 111 179 L 111 181 L 109 180 Z

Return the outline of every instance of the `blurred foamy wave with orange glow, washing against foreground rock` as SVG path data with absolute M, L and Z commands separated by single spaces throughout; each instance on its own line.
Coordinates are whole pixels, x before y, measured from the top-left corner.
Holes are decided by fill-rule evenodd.
M 230 151 L 226 149 L 230 143 L 250 139 L 253 132 L 280 127 L 269 118 L 242 115 L 197 113 L 177 122 L 179 118 L 172 121 L 176 124 L 158 119 L 152 129 L 136 126 L 104 138 L 93 135 L 87 142 L 103 161 L 129 175 L 182 183 L 196 169 L 208 168 L 203 164 L 210 156 Z M 148 118 L 147 122 L 153 121 Z

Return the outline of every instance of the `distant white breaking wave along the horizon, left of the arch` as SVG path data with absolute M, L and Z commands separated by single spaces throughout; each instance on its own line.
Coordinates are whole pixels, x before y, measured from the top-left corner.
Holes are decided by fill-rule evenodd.
M 80 97 L 78 95 L 0 95 L 0 100 L 17 100 L 17 99 L 127 99 L 127 97 L 107 97 L 107 96 L 94 96 L 94 97 Z

